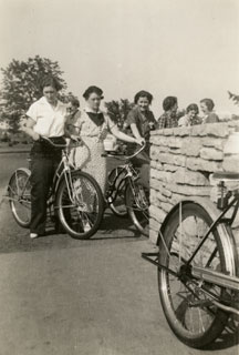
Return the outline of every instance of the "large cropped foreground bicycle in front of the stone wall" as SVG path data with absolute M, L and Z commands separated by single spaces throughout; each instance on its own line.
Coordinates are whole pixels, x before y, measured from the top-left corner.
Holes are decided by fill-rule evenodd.
M 160 226 L 158 252 L 142 254 L 157 266 L 160 303 L 172 331 L 196 348 L 218 338 L 230 315 L 239 316 L 232 229 L 239 209 L 239 173 L 217 172 L 212 180 L 218 184 L 217 206 L 207 199 L 180 201 Z

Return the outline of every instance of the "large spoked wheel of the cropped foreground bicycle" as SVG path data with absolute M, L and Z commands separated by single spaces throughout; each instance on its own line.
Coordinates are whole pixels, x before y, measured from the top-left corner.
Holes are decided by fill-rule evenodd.
M 181 224 L 179 223 L 179 215 L 181 215 Z M 191 219 L 191 220 L 190 220 Z M 184 235 L 189 235 L 189 237 L 184 239 L 184 245 L 181 244 L 181 260 L 188 260 L 188 256 L 190 256 L 190 245 L 193 251 L 195 250 L 194 243 L 195 243 L 195 237 L 197 239 L 198 235 L 194 236 L 193 230 L 194 227 L 194 222 L 201 220 L 202 223 L 207 227 L 209 227 L 212 224 L 211 216 L 207 213 L 207 211 L 199 204 L 197 203 L 187 203 L 183 204 L 181 211 L 179 213 L 179 207 L 173 212 L 170 217 L 168 219 L 165 229 L 164 229 L 164 237 L 165 237 L 165 243 L 168 247 L 168 253 L 166 252 L 166 248 L 164 247 L 164 243 L 159 243 L 159 264 L 165 265 L 166 267 L 174 267 L 174 263 L 177 258 L 177 263 L 179 264 L 180 261 L 180 248 L 178 244 L 180 245 L 179 237 L 178 237 L 178 227 L 181 227 L 181 231 L 184 232 Z M 200 223 L 201 223 L 200 222 Z M 200 233 L 200 231 L 204 230 L 204 224 L 198 224 L 197 225 L 197 234 Z M 199 232 L 198 232 L 199 231 Z M 227 254 L 224 251 L 222 243 L 221 243 L 221 236 L 218 229 L 214 230 L 210 235 L 210 237 L 206 241 L 207 244 L 204 244 L 204 247 L 200 248 L 200 252 L 204 253 L 204 255 L 198 255 L 197 261 L 194 260 L 194 263 L 202 263 L 206 264 L 206 260 L 209 261 L 209 254 L 215 250 L 216 254 L 215 257 L 211 260 L 210 267 L 218 267 L 220 271 L 226 273 L 226 265 L 228 265 Z M 194 237 L 194 239 L 193 239 Z M 199 240 L 197 241 L 199 242 Z M 195 243 L 197 245 L 197 243 Z M 209 246 L 211 245 L 211 252 Z M 183 250 L 184 247 L 184 250 Z M 179 248 L 179 253 L 177 251 Z M 199 253 L 200 253 L 199 252 Z M 187 256 L 185 256 L 187 254 Z M 204 256 L 204 257 L 202 257 Z M 217 257 L 216 257 L 217 256 Z M 219 262 L 219 264 L 217 264 Z M 212 265 L 214 263 L 214 265 Z M 196 264 L 195 264 L 196 265 Z M 198 265 L 199 266 L 199 265 Z M 202 265 L 200 265 L 202 266 Z M 204 265 L 209 266 L 209 265 Z M 170 277 L 170 278 L 169 278 Z M 187 295 L 186 292 L 186 284 L 184 284 L 179 278 L 172 276 L 166 268 L 160 268 L 158 266 L 158 291 L 159 291 L 159 296 L 160 296 L 160 303 L 163 306 L 164 314 L 166 316 L 166 320 L 174 332 L 174 334 L 186 345 L 195 348 L 205 348 L 207 345 L 212 343 L 224 331 L 229 313 L 226 313 L 216 306 L 212 306 L 212 308 L 208 307 L 198 307 L 196 306 L 190 306 L 190 303 L 194 302 L 194 297 L 205 297 L 205 294 L 199 291 L 199 294 L 197 294 L 197 297 L 194 295 L 194 293 Z M 180 293 L 183 293 L 181 290 L 184 290 L 184 301 L 181 301 L 181 304 L 179 303 L 176 306 L 176 293 L 175 293 L 175 282 L 178 283 L 178 290 L 180 290 Z M 206 285 L 206 283 L 205 283 Z M 214 293 L 218 294 L 219 296 L 225 296 L 226 290 L 219 286 L 215 286 L 212 284 L 207 284 L 208 287 L 210 287 Z M 196 288 L 195 288 L 196 290 Z M 197 291 L 198 292 L 198 291 Z M 175 298 L 174 298 L 175 294 Z M 179 295 L 179 292 L 177 296 Z M 188 297 L 188 298 L 187 298 Z M 200 298 L 201 304 L 204 303 L 204 298 Z M 178 296 L 179 300 L 179 296 Z M 189 301 L 190 300 L 190 301 Z M 193 300 L 193 301 L 191 301 Z M 205 300 L 206 301 L 206 300 Z M 175 302 L 175 303 L 174 303 Z M 184 304 L 183 304 L 184 303 Z M 193 304 L 193 303 L 191 303 Z M 196 303 L 195 303 L 196 304 Z M 206 315 L 208 316 L 208 320 L 211 317 L 211 321 L 209 324 L 200 324 L 198 323 L 199 329 L 196 329 L 197 326 L 195 326 L 196 322 L 190 322 L 193 320 L 193 316 L 195 316 L 195 312 L 198 312 L 198 317 L 200 318 L 200 322 L 202 323 L 202 317 Z M 214 315 L 211 316 L 211 312 L 214 311 Z M 197 315 L 197 314 L 196 314 Z M 190 318 L 191 317 L 191 318 Z M 189 324 L 191 323 L 191 324 Z M 201 328 L 200 328 L 201 327 Z

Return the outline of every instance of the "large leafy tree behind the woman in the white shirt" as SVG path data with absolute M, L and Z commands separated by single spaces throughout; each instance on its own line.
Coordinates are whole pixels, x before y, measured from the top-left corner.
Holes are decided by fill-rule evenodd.
M 0 92 L 0 116 L 8 121 L 10 131 L 17 132 L 20 128 L 21 116 L 24 115 L 30 104 L 40 99 L 41 78 L 45 74 L 54 75 L 62 84 L 60 99 L 65 101 L 66 82 L 62 78 L 63 71 L 58 61 L 35 55 L 27 61 L 13 59 L 3 74 L 2 90 Z

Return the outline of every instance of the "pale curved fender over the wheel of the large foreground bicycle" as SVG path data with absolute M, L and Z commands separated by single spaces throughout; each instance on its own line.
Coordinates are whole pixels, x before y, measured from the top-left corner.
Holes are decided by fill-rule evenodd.
M 205 211 L 208 212 L 212 221 L 217 220 L 221 213 L 221 211 L 219 211 L 208 197 L 191 196 L 191 197 L 181 200 L 169 211 L 169 213 L 166 215 L 165 220 L 163 221 L 158 232 L 156 245 L 159 245 L 159 242 L 162 240 L 160 235 L 164 235 L 165 227 L 170 216 L 173 215 L 173 213 L 175 213 L 175 211 L 177 210 L 179 213 L 180 204 L 186 205 L 187 203 L 196 203 L 200 205 Z M 233 234 L 231 233 L 230 227 L 225 223 L 218 223 L 217 231 L 221 237 L 222 247 L 225 252 L 228 254 L 227 260 L 229 261 L 229 263 L 227 265 L 227 271 L 229 272 L 230 275 L 237 275 L 237 270 L 236 270 L 237 247 L 236 247 L 236 241 L 235 241 Z

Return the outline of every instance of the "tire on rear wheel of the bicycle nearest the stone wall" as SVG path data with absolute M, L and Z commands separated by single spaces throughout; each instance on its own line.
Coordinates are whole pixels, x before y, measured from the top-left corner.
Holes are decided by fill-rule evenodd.
M 119 176 L 123 171 L 124 169 L 122 166 L 117 166 L 110 172 L 107 178 L 108 187 L 114 183 L 115 178 Z M 121 180 L 118 183 L 121 183 Z M 114 201 L 112 201 L 110 197 L 107 199 L 112 212 L 118 217 L 127 217 L 127 209 L 125 205 L 125 184 L 121 187 L 121 191 L 117 192 L 116 196 L 113 195 L 113 200 Z

